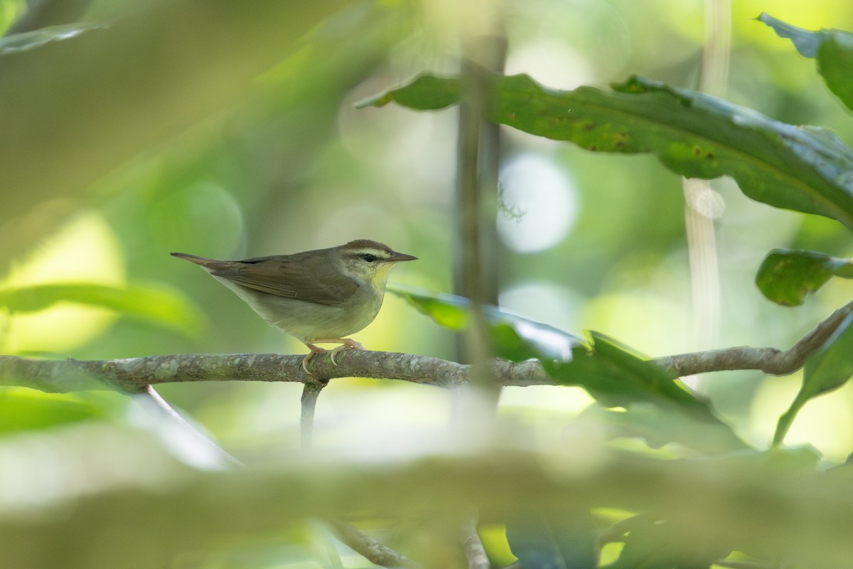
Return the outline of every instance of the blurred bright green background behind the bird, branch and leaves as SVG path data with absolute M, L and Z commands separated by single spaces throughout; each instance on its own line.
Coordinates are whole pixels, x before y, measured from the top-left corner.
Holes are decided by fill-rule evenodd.
M 0 352 L 110 359 L 304 350 L 171 251 L 244 258 L 369 238 L 420 258 L 395 269 L 392 282 L 450 291 L 457 109 L 354 105 L 422 71 L 456 73 L 471 15 L 455 2 L 80 5 L 78 20 L 91 26 L 77 35 L 0 46 L 0 290 L 82 283 L 136 296 L 125 299 L 130 314 L 59 298 L 44 310 L 0 312 Z M 24 9 L 0 0 L 0 29 Z M 814 61 L 754 20 L 762 11 L 809 29 L 853 29 L 848 3 L 734 2 L 725 98 L 853 143 L 853 119 Z M 527 0 L 502 12 L 507 73 L 559 89 L 606 87 L 631 73 L 696 87 L 701 2 Z M 833 281 L 803 307 L 763 299 L 753 279 L 769 249 L 850 256 L 849 235 L 717 180 L 721 330 L 716 345 L 697 345 L 680 179 L 648 156 L 503 134 L 497 223 L 509 311 L 664 356 L 786 348 L 853 293 L 850 282 Z M 356 338 L 374 350 L 456 353 L 453 334 L 390 294 Z M 701 385 L 764 448 L 798 384 L 798 374 L 722 373 Z M 258 462 L 298 451 L 299 387 L 220 382 L 160 392 L 230 452 Z M 575 388 L 508 388 L 502 414 L 562 420 L 589 402 Z M 335 380 L 317 409 L 316 444 L 357 450 L 371 441 L 369 454 L 380 437 L 382 452 L 404 456 L 428 448 L 451 407 L 428 387 Z M 131 408 L 111 393 L 7 388 L 0 433 L 135 425 Z M 853 388 L 810 402 L 786 442 L 843 461 L 853 448 Z

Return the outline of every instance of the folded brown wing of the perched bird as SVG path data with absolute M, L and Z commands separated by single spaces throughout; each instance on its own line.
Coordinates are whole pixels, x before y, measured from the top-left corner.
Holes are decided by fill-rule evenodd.
M 241 287 L 287 299 L 321 305 L 340 305 L 356 292 L 358 283 L 341 275 L 325 259 L 299 253 L 245 261 L 220 261 L 206 267 L 213 276 L 226 278 Z

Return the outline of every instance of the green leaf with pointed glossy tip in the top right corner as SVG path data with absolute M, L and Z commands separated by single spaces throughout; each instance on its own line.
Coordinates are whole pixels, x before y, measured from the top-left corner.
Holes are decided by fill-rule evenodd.
M 841 30 L 810 32 L 762 13 L 758 20 L 773 28 L 780 38 L 788 38 L 800 55 L 817 60 L 829 90 L 847 108 L 853 109 L 853 33 Z

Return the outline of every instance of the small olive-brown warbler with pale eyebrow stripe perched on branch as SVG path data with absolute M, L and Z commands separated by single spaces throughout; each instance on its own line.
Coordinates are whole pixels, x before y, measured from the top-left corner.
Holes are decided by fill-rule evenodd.
M 374 321 L 392 266 L 417 258 L 368 239 L 242 261 L 218 261 L 187 253 L 171 255 L 200 264 L 265 321 L 308 346 L 310 352 L 302 360 L 306 374 L 310 374 L 310 359 L 327 351 L 316 344 L 340 344 L 331 350 L 335 364 L 339 351 L 365 349 L 345 336 Z

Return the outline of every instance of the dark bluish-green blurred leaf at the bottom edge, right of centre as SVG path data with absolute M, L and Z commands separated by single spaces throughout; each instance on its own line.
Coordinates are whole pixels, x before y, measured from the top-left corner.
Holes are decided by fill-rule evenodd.
M 525 569 L 593 569 L 598 564 L 598 531 L 589 510 L 512 518 L 507 541 Z

